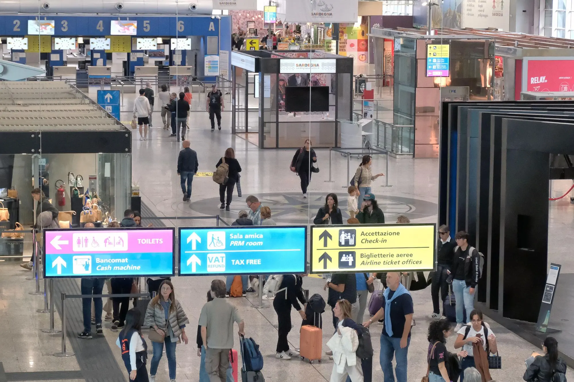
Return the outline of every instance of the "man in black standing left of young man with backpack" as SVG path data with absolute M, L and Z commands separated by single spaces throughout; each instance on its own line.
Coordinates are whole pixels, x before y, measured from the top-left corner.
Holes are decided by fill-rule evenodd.
M 437 242 L 437 266 L 436 271 L 432 273 L 432 283 L 430 285 L 430 296 L 432 296 L 433 314 L 430 316 L 433 320 L 440 318 L 439 305 L 439 288 L 440 301 L 444 301 L 448 294 L 447 277 L 452 269 L 452 258 L 455 254 L 455 239 L 451 238 L 451 232 L 447 225 L 439 227 L 439 241 Z M 443 312 L 444 313 L 444 312 Z

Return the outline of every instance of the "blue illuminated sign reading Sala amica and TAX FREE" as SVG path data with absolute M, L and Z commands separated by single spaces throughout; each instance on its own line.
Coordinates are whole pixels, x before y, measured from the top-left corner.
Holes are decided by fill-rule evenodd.
M 179 275 L 306 273 L 306 226 L 180 228 Z

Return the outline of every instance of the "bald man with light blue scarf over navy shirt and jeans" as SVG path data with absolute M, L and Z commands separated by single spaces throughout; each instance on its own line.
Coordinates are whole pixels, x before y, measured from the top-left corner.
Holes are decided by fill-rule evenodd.
M 407 355 L 410 344 L 410 325 L 413 322 L 413 299 L 401 284 L 401 275 L 397 272 L 387 273 L 387 289 L 383 292 L 381 309 L 363 322 L 369 326 L 385 318 L 381 333 L 381 368 L 384 382 L 406 382 Z M 393 356 L 397 361 L 393 375 Z

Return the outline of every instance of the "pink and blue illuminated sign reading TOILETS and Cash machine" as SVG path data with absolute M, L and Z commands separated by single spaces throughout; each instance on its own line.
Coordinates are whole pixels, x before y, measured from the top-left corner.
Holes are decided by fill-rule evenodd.
M 173 276 L 174 229 L 45 230 L 45 278 Z

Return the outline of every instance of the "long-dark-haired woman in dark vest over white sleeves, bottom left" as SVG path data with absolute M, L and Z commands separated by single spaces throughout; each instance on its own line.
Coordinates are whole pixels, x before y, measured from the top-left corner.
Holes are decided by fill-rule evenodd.
M 126 314 L 126 325 L 119 332 L 118 340 L 115 344 L 122 351 L 122 360 L 126 365 L 130 380 L 136 382 L 148 382 L 148 369 L 146 360 L 148 359 L 148 344 L 142 336 L 142 328 L 139 324 L 141 312 L 138 309 L 130 309 Z

